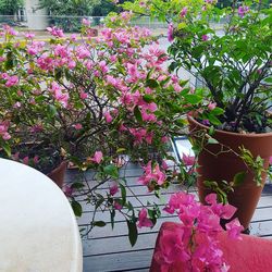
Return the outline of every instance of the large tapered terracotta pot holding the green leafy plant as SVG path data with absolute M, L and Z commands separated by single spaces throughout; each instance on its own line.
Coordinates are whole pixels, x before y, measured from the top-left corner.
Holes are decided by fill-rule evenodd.
M 198 123 L 193 118 L 188 118 L 188 121 L 190 132 L 209 129 L 209 127 Z M 264 160 L 264 168 L 269 168 L 269 159 L 272 156 L 272 133 L 238 134 L 217 129 L 212 137 L 237 153 L 240 153 L 239 147 L 244 146 L 255 158 L 260 156 Z M 245 228 L 248 228 L 263 186 L 257 186 L 254 181 L 254 173 L 239 157 L 233 152 L 221 152 L 222 145 L 209 144 L 206 148 L 207 150 L 202 150 L 198 158 L 199 168 L 197 171 L 199 177 L 197 185 L 200 201 L 203 203 L 205 197 L 211 193 L 211 190 L 203 185 L 205 181 L 226 181 L 230 183 L 236 173 L 246 172 L 243 184 L 235 187 L 234 193 L 227 195 L 227 200 L 237 208 L 237 212 L 234 217 L 237 217 L 240 224 Z M 224 148 L 224 150 L 226 151 L 227 148 Z M 217 156 L 214 156 L 214 153 L 217 153 Z M 265 178 L 267 174 L 262 173 L 262 185 Z

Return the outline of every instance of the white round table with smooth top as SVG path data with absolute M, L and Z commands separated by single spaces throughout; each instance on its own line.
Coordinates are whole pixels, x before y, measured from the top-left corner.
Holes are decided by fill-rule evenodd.
M 0 222 L 1 272 L 83 271 L 74 213 L 42 173 L 0 159 Z

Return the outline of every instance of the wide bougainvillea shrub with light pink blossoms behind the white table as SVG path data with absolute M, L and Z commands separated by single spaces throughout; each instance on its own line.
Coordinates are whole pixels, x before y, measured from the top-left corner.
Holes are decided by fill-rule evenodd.
M 128 27 L 129 13 L 121 18 L 115 18 L 118 27 L 102 29 L 97 38 L 86 21 L 82 36 L 65 37 L 50 27 L 49 42 L 29 33 L 16 40 L 14 30 L 4 27 L 0 151 L 37 169 L 42 161 L 57 161 L 53 149 L 55 157 L 65 154 L 83 174 L 64 188 L 76 215 L 82 214 L 78 197 L 96 210 L 109 210 L 112 226 L 120 212 L 134 245 L 136 226 L 152 226 L 160 211 L 141 201 L 141 208 L 134 209 L 120 169 L 140 161 L 139 183 L 156 193 L 172 181 L 191 178 L 185 161 L 174 170 L 168 165 L 175 163 L 169 138 L 185 133 L 184 118 L 201 99 L 166 71 L 168 57 L 150 32 Z M 87 175 L 91 186 L 84 182 Z M 101 194 L 99 188 L 107 190 Z M 104 224 L 90 219 L 91 227 Z

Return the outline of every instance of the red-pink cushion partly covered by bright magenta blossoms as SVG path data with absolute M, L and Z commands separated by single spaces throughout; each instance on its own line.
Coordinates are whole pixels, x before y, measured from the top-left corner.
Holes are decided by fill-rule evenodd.
M 159 249 L 159 240 L 163 230 L 181 227 L 178 223 L 163 223 L 157 238 L 150 272 L 160 272 L 160 264 L 154 260 Z M 226 233 L 219 235 L 220 246 L 231 272 L 268 272 L 272 271 L 272 239 L 242 235 L 243 240 L 230 239 Z M 173 267 L 171 271 L 182 272 L 181 267 Z

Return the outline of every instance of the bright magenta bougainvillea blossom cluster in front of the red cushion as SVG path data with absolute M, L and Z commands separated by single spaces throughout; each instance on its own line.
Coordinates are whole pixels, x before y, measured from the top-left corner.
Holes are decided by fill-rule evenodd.
M 220 219 L 231 219 L 236 208 L 218 203 L 215 194 L 208 195 L 206 201 L 209 206 L 199 203 L 194 195 L 186 193 L 171 196 L 165 211 L 176 212 L 182 224 L 161 233 L 154 258 L 162 272 L 228 270 L 217 236 L 223 232 Z M 237 219 L 226 224 L 231 239 L 242 239 L 240 231 L 243 226 Z

